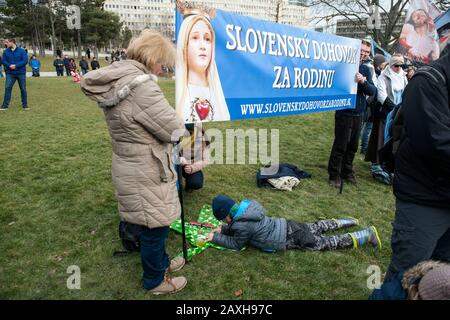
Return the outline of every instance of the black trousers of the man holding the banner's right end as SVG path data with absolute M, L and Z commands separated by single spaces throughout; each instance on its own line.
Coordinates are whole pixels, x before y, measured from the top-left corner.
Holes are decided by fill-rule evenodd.
M 353 159 L 358 151 L 361 116 L 336 112 L 334 142 L 328 161 L 328 175 L 332 180 L 353 176 Z

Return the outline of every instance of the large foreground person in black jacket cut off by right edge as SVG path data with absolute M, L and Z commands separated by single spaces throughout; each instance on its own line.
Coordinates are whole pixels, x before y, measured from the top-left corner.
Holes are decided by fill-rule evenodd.
M 403 97 L 396 212 L 385 282 L 420 261 L 450 261 L 450 55 L 417 70 Z

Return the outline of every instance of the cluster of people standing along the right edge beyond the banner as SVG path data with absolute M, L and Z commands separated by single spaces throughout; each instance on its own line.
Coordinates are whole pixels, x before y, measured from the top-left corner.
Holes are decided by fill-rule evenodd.
M 410 287 L 404 283 L 408 270 L 430 259 L 450 261 L 449 45 L 442 45 L 438 60 L 419 69 L 407 66 L 398 53 L 387 63 L 380 56 L 370 59 L 369 50 L 370 42 L 363 40 L 356 108 L 336 112 L 329 183 L 356 183 L 352 164 L 365 119 L 361 152 L 373 177 L 392 184 L 396 197 L 391 262 L 371 298 L 402 299 Z M 365 65 L 370 67 L 364 70 Z M 388 145 L 391 157 L 386 157 Z M 448 279 L 434 283 L 436 290 L 444 283 L 447 293 L 439 298 L 450 299 Z M 416 299 L 425 297 L 416 291 Z

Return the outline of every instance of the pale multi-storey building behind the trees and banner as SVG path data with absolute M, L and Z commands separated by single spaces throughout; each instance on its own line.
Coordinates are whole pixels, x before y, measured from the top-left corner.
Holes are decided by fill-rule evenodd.
M 197 1 L 217 9 L 306 28 L 309 9 L 306 0 L 203 0 Z M 136 35 L 145 28 L 158 30 L 175 39 L 175 0 L 106 0 L 104 9 L 115 12 L 124 27 Z

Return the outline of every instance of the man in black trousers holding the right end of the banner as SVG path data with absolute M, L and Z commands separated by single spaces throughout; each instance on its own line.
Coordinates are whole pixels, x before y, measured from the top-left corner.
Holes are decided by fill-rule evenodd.
M 359 72 L 355 76 L 358 83 L 356 108 L 336 111 L 334 142 L 328 161 L 329 183 L 339 188 L 341 179 L 355 184 L 353 159 L 358 151 L 359 134 L 361 131 L 361 117 L 366 109 L 366 97 L 375 95 L 377 88 L 373 84 L 370 69 L 362 64 L 370 54 L 370 43 L 363 41 Z

